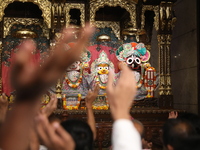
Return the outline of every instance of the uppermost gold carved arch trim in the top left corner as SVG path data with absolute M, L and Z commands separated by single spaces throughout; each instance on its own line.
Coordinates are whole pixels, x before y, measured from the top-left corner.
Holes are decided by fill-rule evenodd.
M 44 22 L 47 24 L 48 28 L 51 28 L 51 2 L 48 0 L 0 0 L 0 21 L 2 21 L 5 8 L 14 1 L 19 2 L 32 2 L 39 6 L 42 10 L 42 17 Z

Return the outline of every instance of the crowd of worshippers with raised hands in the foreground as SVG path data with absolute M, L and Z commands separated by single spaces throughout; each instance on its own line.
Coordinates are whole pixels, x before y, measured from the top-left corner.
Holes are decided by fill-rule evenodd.
M 73 36 L 73 29 L 67 28 L 44 64 L 33 64 L 31 52 L 35 49 L 32 40 L 25 40 L 16 54 L 10 81 L 16 90 L 15 103 L 8 110 L 8 101 L 4 94 L 0 98 L 0 149 L 1 150 L 92 150 L 96 139 L 95 118 L 92 103 L 97 97 L 99 85 L 89 90 L 85 101 L 87 122 L 67 120 L 61 122 L 48 117 L 56 109 L 57 98 L 51 95 L 51 101 L 40 109 L 40 97 L 51 87 L 65 70 L 79 59 L 87 46 L 94 28 L 86 25 L 80 32 L 80 38 L 68 49 L 67 43 Z M 151 149 L 152 143 L 144 139 L 144 126 L 131 119 L 130 108 L 136 96 L 136 82 L 127 65 L 121 64 L 121 74 L 115 83 L 114 72 L 109 71 L 106 93 L 113 118 L 112 150 Z M 130 84 L 133 83 L 133 84 Z M 171 112 L 163 125 L 163 147 L 167 150 L 199 150 L 200 118 L 185 113 L 179 116 Z

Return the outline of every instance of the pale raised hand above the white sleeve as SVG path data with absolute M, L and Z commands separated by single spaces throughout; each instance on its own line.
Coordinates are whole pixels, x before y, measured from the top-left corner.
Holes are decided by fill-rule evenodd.
M 112 70 L 109 72 L 107 83 L 107 96 L 114 120 L 130 119 L 129 110 L 137 90 L 133 72 L 126 65 L 121 65 L 121 70 L 122 73 L 116 86 L 114 86 Z

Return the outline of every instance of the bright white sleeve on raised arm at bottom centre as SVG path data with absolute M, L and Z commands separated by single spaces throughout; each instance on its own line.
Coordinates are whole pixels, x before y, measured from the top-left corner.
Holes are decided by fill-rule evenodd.
M 133 122 L 128 119 L 116 120 L 112 131 L 113 150 L 141 150 L 141 137 Z

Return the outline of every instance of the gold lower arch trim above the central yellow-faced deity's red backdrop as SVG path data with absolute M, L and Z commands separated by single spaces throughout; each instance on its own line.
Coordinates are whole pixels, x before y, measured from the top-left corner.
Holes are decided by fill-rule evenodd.
M 95 26 L 97 28 L 111 28 L 115 36 L 120 40 L 120 23 L 114 21 L 95 21 Z

